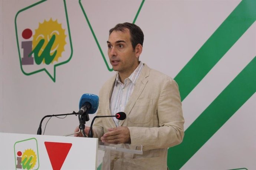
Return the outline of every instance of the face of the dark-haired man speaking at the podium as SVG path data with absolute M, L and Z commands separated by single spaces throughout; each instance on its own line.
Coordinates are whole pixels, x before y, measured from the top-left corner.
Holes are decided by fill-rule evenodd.
M 130 75 L 138 66 L 136 50 L 133 50 L 128 29 L 113 31 L 108 38 L 108 57 L 114 71 Z

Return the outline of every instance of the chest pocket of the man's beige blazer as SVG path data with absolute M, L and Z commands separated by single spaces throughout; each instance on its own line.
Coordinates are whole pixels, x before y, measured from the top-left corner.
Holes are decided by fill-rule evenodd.
M 132 108 L 128 119 L 132 123 L 148 123 L 152 118 L 153 99 L 139 99 Z

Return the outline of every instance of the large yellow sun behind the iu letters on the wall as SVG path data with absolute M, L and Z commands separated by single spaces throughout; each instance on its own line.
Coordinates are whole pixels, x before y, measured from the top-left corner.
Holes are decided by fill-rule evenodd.
M 55 35 L 55 41 L 50 50 L 50 55 L 52 55 L 55 51 L 56 55 L 53 61 L 58 61 L 58 58 L 61 57 L 61 54 L 64 50 L 64 46 L 66 43 L 66 35 L 65 30 L 62 29 L 61 24 L 58 23 L 57 20 L 53 21 L 50 18 L 49 21 L 44 20 L 43 23 L 39 23 L 38 28 L 35 30 L 35 34 L 33 35 L 32 46 L 33 48 L 39 43 L 40 40 L 45 40 L 41 50 L 39 51 L 39 55 L 45 50 L 46 45 L 49 43 L 50 39 Z M 43 59 L 43 63 L 45 63 L 45 59 Z

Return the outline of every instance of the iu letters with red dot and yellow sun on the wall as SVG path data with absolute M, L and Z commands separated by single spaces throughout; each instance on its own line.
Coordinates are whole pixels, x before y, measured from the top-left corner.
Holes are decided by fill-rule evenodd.
M 22 37 L 29 39 L 32 37 L 32 30 L 26 28 L 22 31 Z M 22 65 L 40 65 L 43 63 L 49 65 L 53 61 L 58 62 L 66 44 L 65 30 L 62 29 L 58 21 L 49 21 L 39 23 L 31 41 L 22 41 L 23 49 Z M 33 48 L 33 50 L 32 50 Z M 34 56 L 34 57 L 33 57 Z

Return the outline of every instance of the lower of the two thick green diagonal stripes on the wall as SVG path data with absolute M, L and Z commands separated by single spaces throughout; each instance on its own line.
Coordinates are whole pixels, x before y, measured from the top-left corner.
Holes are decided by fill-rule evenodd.
M 186 130 L 183 142 L 168 149 L 168 167 L 180 169 L 256 91 L 256 57 Z

